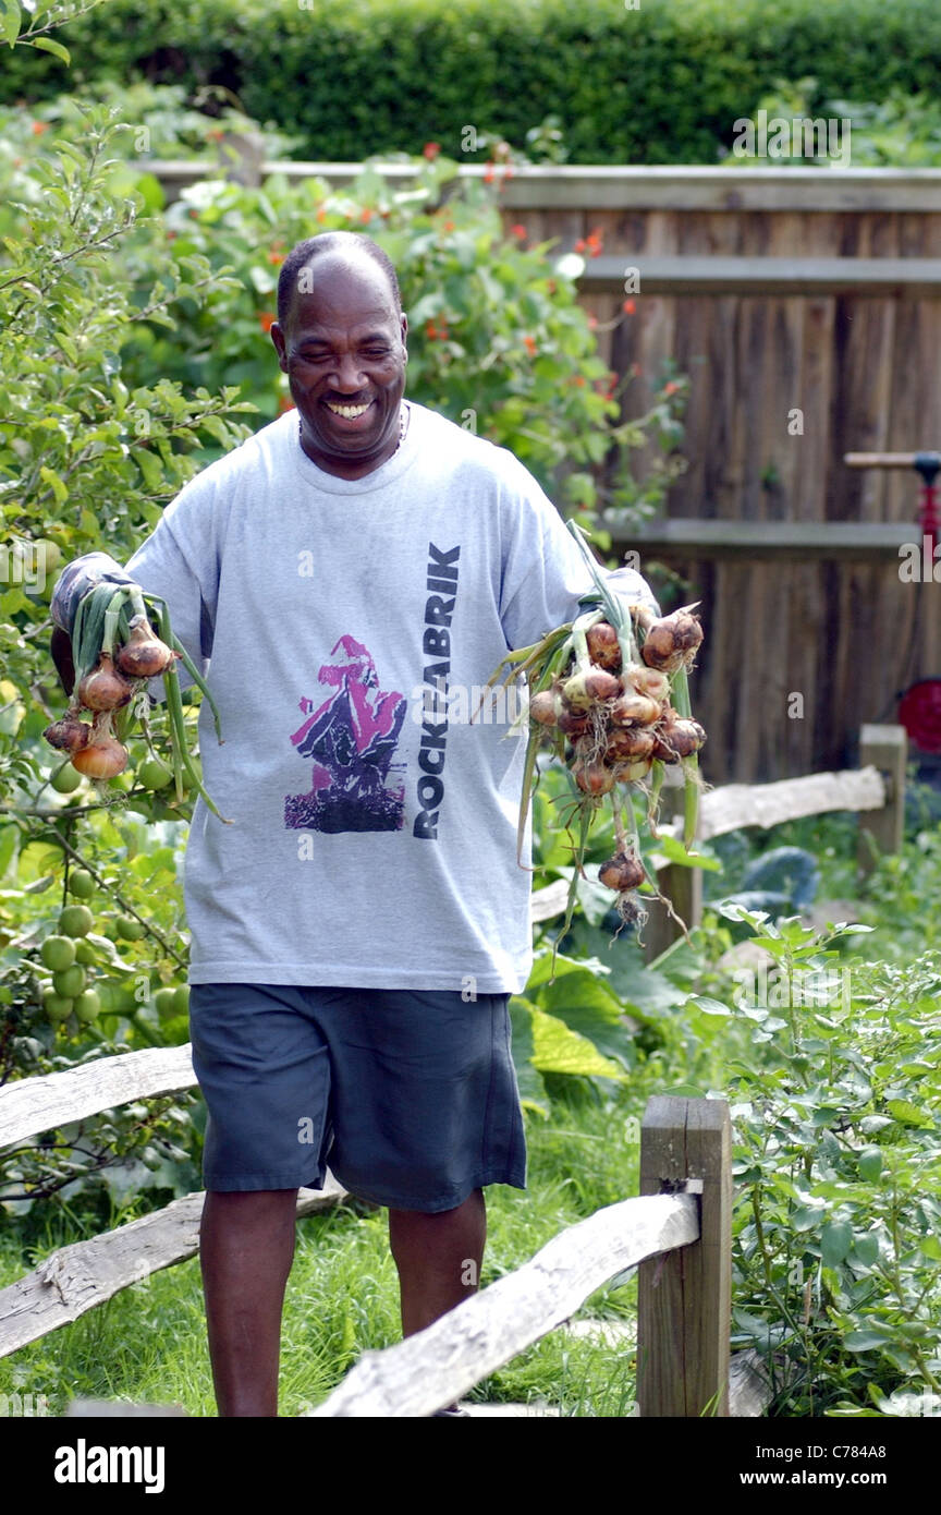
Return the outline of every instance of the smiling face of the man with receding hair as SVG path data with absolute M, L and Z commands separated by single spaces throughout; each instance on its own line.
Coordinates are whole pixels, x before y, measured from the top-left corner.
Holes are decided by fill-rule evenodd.
M 368 258 L 316 258 L 298 280 L 286 327 L 271 327 L 318 468 L 362 479 L 399 439 L 405 332 L 392 289 Z

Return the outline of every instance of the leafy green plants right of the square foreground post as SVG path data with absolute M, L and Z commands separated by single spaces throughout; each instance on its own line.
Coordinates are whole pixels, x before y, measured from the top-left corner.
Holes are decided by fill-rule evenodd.
M 868 927 L 723 914 L 769 956 L 764 983 L 688 1004 L 732 1038 L 734 1345 L 776 1413 L 893 1413 L 941 1374 L 941 956 L 835 970 Z

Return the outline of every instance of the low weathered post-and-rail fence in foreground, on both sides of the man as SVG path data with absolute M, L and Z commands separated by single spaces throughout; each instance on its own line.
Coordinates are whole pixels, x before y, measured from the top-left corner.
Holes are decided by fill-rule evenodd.
M 24 1141 L 48 1124 L 127 1098 L 194 1083 L 189 1047 L 106 1057 L 101 1065 L 24 1080 L 0 1092 L 0 1144 Z M 23 1098 L 30 1085 L 32 1103 Z M 640 1127 L 638 1198 L 610 1204 L 566 1229 L 522 1268 L 416 1336 L 365 1353 L 328 1400 L 309 1413 L 430 1415 L 548 1332 L 567 1326 L 596 1289 L 625 1282 L 638 1268 L 635 1342 L 623 1327 L 608 1327 L 613 1347 L 637 1356 L 637 1413 L 759 1415 L 770 1397 L 761 1359 L 749 1353 L 729 1364 L 731 1173 L 723 1100 L 654 1097 Z M 345 1197 L 328 1173 L 324 1191 L 300 1191 L 297 1214 L 310 1215 Z M 203 1198 L 189 1194 L 103 1236 L 62 1247 L 0 1289 L 0 1356 L 79 1320 L 130 1283 L 195 1256 Z M 604 1323 L 592 1324 L 604 1341 Z M 166 1413 L 171 1407 L 150 1409 Z M 82 1401 L 70 1410 L 103 1412 L 116 1407 Z

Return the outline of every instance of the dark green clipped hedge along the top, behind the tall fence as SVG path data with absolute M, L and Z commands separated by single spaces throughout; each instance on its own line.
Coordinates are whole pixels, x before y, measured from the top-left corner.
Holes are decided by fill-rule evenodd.
M 460 158 L 467 126 L 522 147 L 557 114 L 570 162 L 716 162 L 782 74 L 880 100 L 941 67 L 938 0 L 106 0 L 57 35 L 71 71 L 18 47 L 0 100 L 100 74 L 222 83 L 318 159 Z

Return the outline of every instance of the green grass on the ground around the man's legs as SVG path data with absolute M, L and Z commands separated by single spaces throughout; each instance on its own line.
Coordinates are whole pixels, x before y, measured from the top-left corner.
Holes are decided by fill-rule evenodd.
M 557 1106 L 558 1120 L 531 1118 L 526 1192 L 487 1189 L 487 1251 L 481 1283 L 519 1268 L 545 1242 L 616 1200 L 637 1194 L 637 1147 L 613 1139 L 638 1114 L 637 1091 L 599 1097 L 587 1085 Z M 100 1223 L 51 1215 L 24 1254 L 14 1227 L 0 1236 L 0 1285 Z M 632 1320 L 635 1280 L 598 1291 L 579 1315 Z M 386 1210 L 343 1204 L 298 1223 L 281 1338 L 281 1415 L 322 1401 L 368 1348 L 401 1338 L 398 1282 Z M 213 1417 L 215 1400 L 198 1259 L 132 1285 L 73 1326 L 0 1360 L 2 1394 L 45 1395 L 61 1415 L 73 1397 L 180 1403 Z M 620 1417 L 634 1398 L 634 1351 L 552 1332 L 469 1395 L 489 1401 L 546 1400 L 563 1415 Z

